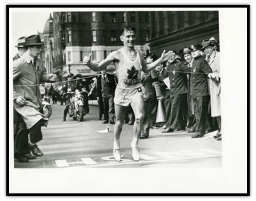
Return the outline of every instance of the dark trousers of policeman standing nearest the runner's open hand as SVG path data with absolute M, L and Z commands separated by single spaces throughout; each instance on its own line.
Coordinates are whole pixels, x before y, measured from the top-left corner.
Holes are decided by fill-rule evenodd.
M 167 123 L 168 128 L 175 129 L 178 118 L 179 121 L 182 121 L 182 114 L 181 112 L 184 112 L 184 104 L 182 104 L 184 101 L 186 101 L 186 94 L 179 94 L 177 96 L 170 97 L 170 103 L 171 103 L 171 112 L 170 112 L 170 119 Z

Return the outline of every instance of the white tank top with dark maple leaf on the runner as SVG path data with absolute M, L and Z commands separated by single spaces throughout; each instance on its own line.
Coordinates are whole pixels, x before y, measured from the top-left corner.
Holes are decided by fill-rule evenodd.
M 120 50 L 122 51 L 122 55 L 124 56 L 124 64 L 120 69 L 116 70 L 116 76 L 118 77 L 118 85 L 116 87 L 120 89 L 136 89 L 138 87 L 142 87 L 142 66 L 138 51 L 136 50 L 137 58 L 133 62 L 129 60 L 123 49 Z

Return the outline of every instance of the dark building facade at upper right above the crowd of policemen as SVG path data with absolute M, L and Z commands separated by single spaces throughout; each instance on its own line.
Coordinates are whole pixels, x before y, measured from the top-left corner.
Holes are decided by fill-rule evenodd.
M 218 11 L 150 12 L 150 51 L 182 53 L 191 44 L 215 37 L 219 41 Z

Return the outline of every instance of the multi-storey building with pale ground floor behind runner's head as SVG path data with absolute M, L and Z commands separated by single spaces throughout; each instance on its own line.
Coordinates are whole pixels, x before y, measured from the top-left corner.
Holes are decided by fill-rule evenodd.
M 67 72 L 95 76 L 83 64 L 84 56 L 92 54 L 93 62 L 100 62 L 111 51 L 120 49 L 120 30 L 127 25 L 136 28 L 135 48 L 149 52 L 149 12 L 54 12 L 54 73 L 63 80 Z M 107 71 L 115 71 L 113 64 Z

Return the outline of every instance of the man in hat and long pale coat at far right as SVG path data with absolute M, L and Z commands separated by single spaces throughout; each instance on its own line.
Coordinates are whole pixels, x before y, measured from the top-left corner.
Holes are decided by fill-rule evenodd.
M 214 38 L 214 37 L 211 37 Z M 221 137 L 221 71 L 220 53 L 216 51 L 215 39 L 203 40 L 202 51 L 205 52 L 206 60 L 213 71 L 209 77 L 209 91 L 211 104 L 211 117 L 215 117 L 218 123 L 218 135 Z

